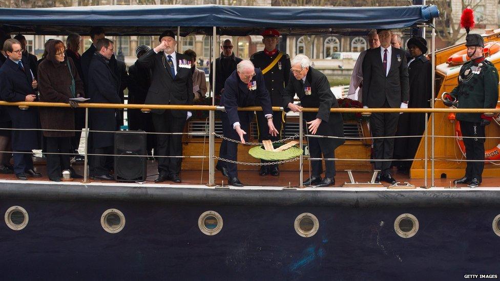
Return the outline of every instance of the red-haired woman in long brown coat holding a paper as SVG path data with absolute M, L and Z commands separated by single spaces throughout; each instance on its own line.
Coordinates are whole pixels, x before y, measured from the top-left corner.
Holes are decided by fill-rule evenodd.
M 47 56 L 38 66 L 38 91 L 40 101 L 64 102 L 77 107 L 78 102 L 70 100 L 84 95 L 75 64 L 65 56 L 65 47 L 60 40 L 47 44 Z M 41 107 L 39 109 L 41 128 L 47 138 L 47 174 L 51 181 L 61 181 L 61 171 L 68 169 L 73 178 L 81 178 L 70 166 L 71 138 L 75 132 L 75 113 L 68 107 Z M 54 131 L 58 130 L 58 131 Z M 56 154 L 52 154 L 56 153 Z

